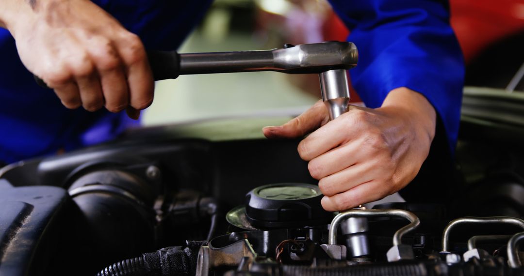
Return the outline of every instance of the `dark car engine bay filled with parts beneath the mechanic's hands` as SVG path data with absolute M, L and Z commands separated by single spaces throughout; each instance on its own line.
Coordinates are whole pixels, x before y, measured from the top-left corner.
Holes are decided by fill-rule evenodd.
M 523 132 L 479 123 L 481 94 L 466 91 L 456 162 L 435 137 L 405 201 L 339 213 L 299 141 L 253 137 L 253 118 L 7 165 L 0 275 L 524 275 Z

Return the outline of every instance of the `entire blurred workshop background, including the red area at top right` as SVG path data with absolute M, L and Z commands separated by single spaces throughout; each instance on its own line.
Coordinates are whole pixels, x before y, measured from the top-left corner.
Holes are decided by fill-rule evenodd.
M 450 4 L 467 65 L 466 85 L 523 91 L 524 1 Z M 284 43 L 345 40 L 347 35 L 326 0 L 216 0 L 179 52 L 267 50 Z M 359 101 L 352 94 L 352 101 Z M 319 98 L 316 75 L 185 75 L 157 82 L 155 100 L 142 122 L 152 126 L 268 116 L 285 122 Z

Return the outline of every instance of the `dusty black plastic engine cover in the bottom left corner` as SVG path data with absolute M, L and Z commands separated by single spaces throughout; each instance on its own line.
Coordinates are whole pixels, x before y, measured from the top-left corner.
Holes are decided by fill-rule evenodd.
M 58 187 L 13 187 L 0 179 L 0 275 L 45 275 L 69 227 L 64 223 L 70 205 Z

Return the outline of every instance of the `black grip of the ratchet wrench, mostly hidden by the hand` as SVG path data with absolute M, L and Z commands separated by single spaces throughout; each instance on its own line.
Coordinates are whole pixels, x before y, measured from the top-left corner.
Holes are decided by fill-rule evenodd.
M 147 59 L 155 80 L 172 79 L 180 75 L 180 56 L 176 51 L 148 51 Z M 49 88 L 41 78 L 33 76 L 39 86 Z

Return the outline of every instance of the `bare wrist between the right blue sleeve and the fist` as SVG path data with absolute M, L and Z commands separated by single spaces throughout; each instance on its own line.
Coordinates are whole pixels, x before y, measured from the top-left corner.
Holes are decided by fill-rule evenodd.
M 436 128 L 434 107 L 422 94 L 406 87 L 393 89 L 384 100 L 381 109 L 391 110 L 409 120 L 414 131 L 433 141 Z

